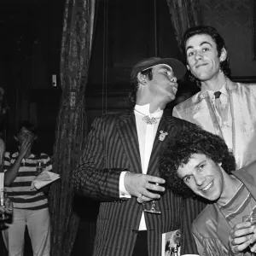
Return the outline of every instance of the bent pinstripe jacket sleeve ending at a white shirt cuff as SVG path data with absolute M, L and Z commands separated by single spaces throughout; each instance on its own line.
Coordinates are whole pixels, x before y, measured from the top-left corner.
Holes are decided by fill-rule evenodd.
M 79 195 L 97 201 L 119 200 L 119 176 L 125 169 L 108 169 L 105 165 L 106 121 L 96 118 L 91 125 L 84 152 L 73 172 L 73 188 Z

